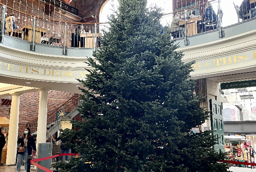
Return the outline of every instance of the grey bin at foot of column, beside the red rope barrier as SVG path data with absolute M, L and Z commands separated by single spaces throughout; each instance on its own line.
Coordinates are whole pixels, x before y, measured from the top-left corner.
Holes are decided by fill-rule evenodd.
M 37 153 L 38 153 L 38 158 L 45 158 L 48 156 L 52 156 L 52 143 L 39 143 Z M 45 168 L 50 169 L 52 165 L 52 159 L 39 161 L 38 164 Z M 36 168 L 36 172 L 45 172 L 45 171 L 41 170 L 40 168 Z

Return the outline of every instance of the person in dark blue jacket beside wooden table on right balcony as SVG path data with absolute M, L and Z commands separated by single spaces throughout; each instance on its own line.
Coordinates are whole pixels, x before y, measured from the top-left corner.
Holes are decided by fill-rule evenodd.
M 212 9 L 212 4 L 208 3 L 206 4 L 206 10 L 204 13 L 204 23 L 206 25 L 206 30 L 213 30 L 216 29 L 216 13 L 215 11 Z M 204 28 L 203 28 L 204 30 Z

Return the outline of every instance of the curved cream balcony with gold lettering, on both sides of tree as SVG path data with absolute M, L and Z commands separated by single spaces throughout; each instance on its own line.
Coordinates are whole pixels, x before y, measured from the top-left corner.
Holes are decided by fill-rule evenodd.
M 198 7 L 180 10 L 180 13 L 186 17 L 189 10 Z M 33 87 L 48 86 L 52 82 L 55 85 L 51 83 L 50 86 L 54 85 L 57 90 L 61 89 L 60 84 L 56 83 L 70 83 L 73 84 L 70 88 L 77 90 L 74 86 L 78 84 L 76 78 L 86 77 L 84 68 L 88 66 L 84 61 L 100 47 L 102 29 L 107 29 L 104 24 L 46 20 L 17 10 L 13 13 L 15 20 L 6 15 L 5 6 L 0 7 L 0 14 L 3 23 L 0 35 L 2 80 L 6 80 L 6 83 L 15 81 L 11 78 L 37 81 Z M 178 14 L 179 11 L 175 15 Z M 166 16 L 174 17 L 173 14 L 166 14 L 164 18 Z M 181 23 L 185 24 L 185 36 L 176 39 L 180 46 L 177 51 L 184 52 L 184 62 L 196 61 L 192 66 L 195 70 L 191 73 L 192 78 L 255 70 L 255 20 L 251 18 L 226 27 L 219 22 L 218 27 L 210 31 L 199 31 L 203 22 L 200 14 Z M 14 25 L 18 27 L 13 28 Z

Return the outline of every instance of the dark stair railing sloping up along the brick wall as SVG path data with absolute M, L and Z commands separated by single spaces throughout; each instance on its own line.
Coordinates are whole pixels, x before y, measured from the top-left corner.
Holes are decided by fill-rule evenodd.
M 79 105 L 79 94 L 75 94 L 72 98 L 70 98 L 68 101 L 66 101 L 64 104 L 59 106 L 58 108 L 55 108 L 51 111 L 47 112 L 47 126 L 50 124 L 57 123 L 57 113 L 60 114 L 61 112 L 71 112 Z M 64 113 L 65 114 L 65 113 Z M 67 115 L 67 113 L 65 114 Z M 30 127 L 31 133 L 34 133 L 37 131 L 37 123 L 38 118 L 33 119 L 32 121 L 28 122 L 28 127 Z

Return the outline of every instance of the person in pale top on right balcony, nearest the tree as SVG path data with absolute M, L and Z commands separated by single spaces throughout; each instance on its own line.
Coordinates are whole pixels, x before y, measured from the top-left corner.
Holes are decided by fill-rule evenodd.
M 177 14 L 176 16 L 174 16 L 174 18 L 172 19 L 170 32 L 174 38 L 184 36 L 185 29 L 184 29 L 184 27 L 182 27 L 183 25 L 180 26 L 180 21 L 183 21 L 182 18 L 183 18 L 183 16 L 180 13 L 180 14 Z

